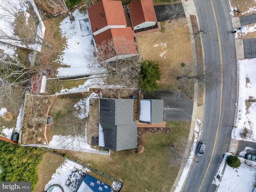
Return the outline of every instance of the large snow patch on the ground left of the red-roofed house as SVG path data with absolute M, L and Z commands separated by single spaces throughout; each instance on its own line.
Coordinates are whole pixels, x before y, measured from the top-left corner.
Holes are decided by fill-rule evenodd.
M 92 34 L 88 14 L 82 14 L 78 9 L 72 13 L 74 21 L 67 16 L 60 23 L 63 38 L 66 38 L 66 46 L 60 58 L 56 62 L 69 67 L 58 68 L 58 77 L 81 74 L 92 74 L 99 67 L 94 59 L 94 45 L 91 44 Z

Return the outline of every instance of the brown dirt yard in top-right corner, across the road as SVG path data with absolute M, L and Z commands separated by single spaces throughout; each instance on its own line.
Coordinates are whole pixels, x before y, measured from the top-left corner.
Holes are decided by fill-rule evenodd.
M 242 15 L 242 13 L 249 10 L 249 8 L 256 6 L 256 2 L 254 0 L 230 0 L 231 6 L 236 7 L 237 11 L 234 11 L 234 17 L 246 16 L 250 14 L 256 13 L 256 11 L 252 13 L 246 13 Z

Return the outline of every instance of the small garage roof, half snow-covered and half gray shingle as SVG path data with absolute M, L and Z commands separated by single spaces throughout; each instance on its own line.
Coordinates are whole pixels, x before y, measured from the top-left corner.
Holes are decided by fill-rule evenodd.
M 163 122 L 164 100 L 140 99 L 139 122 L 147 124 L 160 124 Z

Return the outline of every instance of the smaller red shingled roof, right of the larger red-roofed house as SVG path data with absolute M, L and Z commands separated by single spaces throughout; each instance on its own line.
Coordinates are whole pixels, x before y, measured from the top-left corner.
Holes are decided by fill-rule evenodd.
M 157 22 L 152 0 L 134 0 L 128 7 L 133 27 L 146 21 Z

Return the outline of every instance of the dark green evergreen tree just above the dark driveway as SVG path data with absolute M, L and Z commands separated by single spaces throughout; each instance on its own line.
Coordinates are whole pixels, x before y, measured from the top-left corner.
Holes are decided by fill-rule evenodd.
M 140 66 L 140 89 L 142 93 L 158 89 L 156 80 L 161 80 L 159 64 L 154 61 L 142 61 Z

